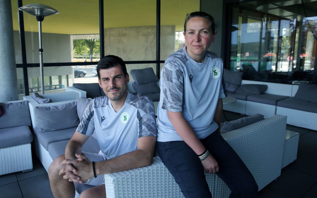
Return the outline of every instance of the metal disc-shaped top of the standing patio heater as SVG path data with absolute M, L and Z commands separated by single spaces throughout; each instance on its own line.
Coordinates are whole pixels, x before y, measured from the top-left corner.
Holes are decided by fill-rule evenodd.
M 47 5 L 40 4 L 40 3 L 25 5 L 19 8 L 19 10 L 27 12 L 34 16 L 43 16 L 43 17 L 59 13 L 59 11 L 55 10 L 54 8 L 49 7 Z

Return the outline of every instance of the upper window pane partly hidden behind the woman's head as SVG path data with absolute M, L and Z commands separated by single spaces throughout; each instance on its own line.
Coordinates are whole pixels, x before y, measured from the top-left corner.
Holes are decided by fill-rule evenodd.
M 199 11 L 199 0 L 161 0 L 161 49 L 160 60 L 184 46 L 186 14 Z

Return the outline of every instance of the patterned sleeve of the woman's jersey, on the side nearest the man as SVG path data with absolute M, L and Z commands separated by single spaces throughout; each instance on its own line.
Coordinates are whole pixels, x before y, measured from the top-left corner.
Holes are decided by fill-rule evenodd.
M 166 60 L 162 71 L 162 109 L 170 112 L 183 111 L 184 71 L 177 59 Z

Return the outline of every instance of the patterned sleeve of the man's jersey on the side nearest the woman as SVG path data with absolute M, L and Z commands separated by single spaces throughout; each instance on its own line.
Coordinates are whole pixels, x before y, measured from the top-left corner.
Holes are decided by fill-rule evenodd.
M 156 136 L 156 118 L 152 100 L 146 96 L 139 95 L 137 101 L 139 135 L 138 137 Z

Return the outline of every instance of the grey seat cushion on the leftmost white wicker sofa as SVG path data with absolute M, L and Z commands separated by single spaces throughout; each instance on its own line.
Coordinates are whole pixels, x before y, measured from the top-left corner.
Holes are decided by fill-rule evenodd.
M 0 137 L 0 149 L 28 144 L 33 140 L 29 126 L 16 126 L 0 129 Z

